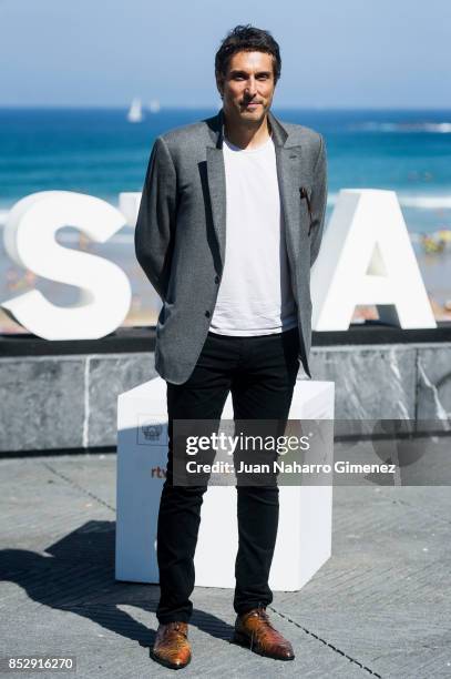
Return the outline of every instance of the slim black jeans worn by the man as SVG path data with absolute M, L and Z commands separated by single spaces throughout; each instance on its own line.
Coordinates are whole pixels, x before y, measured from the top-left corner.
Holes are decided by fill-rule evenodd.
M 194 554 L 207 486 L 174 486 L 173 420 L 221 419 L 232 392 L 235 419 L 285 424 L 299 367 L 299 335 L 234 337 L 208 333 L 194 372 L 181 385 L 167 383 L 168 459 L 157 527 L 160 622 L 187 622 L 193 611 Z M 239 615 L 273 600 L 268 586 L 276 544 L 279 489 L 237 486 L 238 554 L 234 608 Z

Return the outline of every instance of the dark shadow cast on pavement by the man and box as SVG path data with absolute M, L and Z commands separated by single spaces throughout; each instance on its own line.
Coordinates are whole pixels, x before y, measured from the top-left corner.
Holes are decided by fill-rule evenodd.
M 114 579 L 114 521 L 88 521 L 47 548 L 0 550 L 0 579 L 16 582 L 33 601 L 71 611 L 143 647 L 152 647 L 156 630 L 135 620 L 120 606 L 155 612 L 156 585 Z M 194 609 L 191 624 L 213 637 L 229 640 L 233 627 Z

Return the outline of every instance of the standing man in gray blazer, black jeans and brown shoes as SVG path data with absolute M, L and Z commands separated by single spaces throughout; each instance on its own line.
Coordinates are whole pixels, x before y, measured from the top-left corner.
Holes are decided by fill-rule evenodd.
M 136 257 L 163 301 L 155 367 L 167 382 L 170 450 L 157 530 L 161 599 L 153 657 L 191 660 L 194 553 L 205 485 L 173 485 L 173 423 L 286 422 L 299 367 L 311 377 L 310 266 L 327 196 L 322 136 L 269 111 L 280 75 L 277 42 L 236 27 L 215 59 L 223 99 L 208 120 L 158 136 L 136 224 Z M 237 486 L 235 641 L 291 660 L 273 627 L 269 569 L 278 488 Z

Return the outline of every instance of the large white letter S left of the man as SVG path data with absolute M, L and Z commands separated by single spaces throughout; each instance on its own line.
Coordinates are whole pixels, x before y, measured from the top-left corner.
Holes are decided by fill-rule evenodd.
M 132 298 L 126 274 L 113 262 L 63 247 L 62 226 L 80 229 L 104 243 L 124 226 L 124 215 L 101 199 L 71 191 L 42 191 L 12 207 L 4 247 L 20 266 L 39 276 L 80 288 L 79 302 L 55 306 L 33 290 L 0 305 L 31 333 L 45 340 L 98 340 L 124 321 Z

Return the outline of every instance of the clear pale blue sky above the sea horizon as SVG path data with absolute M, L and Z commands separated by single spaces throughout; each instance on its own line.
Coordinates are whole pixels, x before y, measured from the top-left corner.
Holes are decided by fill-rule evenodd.
M 237 23 L 279 42 L 278 107 L 451 108 L 450 0 L 0 0 L 0 107 L 217 107 Z

